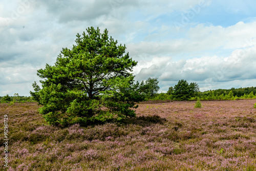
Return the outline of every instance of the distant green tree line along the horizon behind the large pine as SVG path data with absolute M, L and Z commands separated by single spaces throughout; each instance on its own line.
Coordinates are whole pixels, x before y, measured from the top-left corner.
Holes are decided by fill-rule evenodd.
M 248 88 L 231 88 L 218 89 L 200 92 L 199 86 L 196 82 L 190 84 L 186 80 L 179 80 L 174 87 L 169 87 L 166 93 L 158 93 L 160 87 L 158 86 L 158 78 L 149 77 L 145 81 L 137 81 L 131 87 L 127 88 L 135 101 L 147 100 L 235 100 L 256 98 L 256 87 Z M 34 101 L 33 97 L 19 96 L 15 93 L 14 96 L 1 97 L 1 102 L 21 102 Z

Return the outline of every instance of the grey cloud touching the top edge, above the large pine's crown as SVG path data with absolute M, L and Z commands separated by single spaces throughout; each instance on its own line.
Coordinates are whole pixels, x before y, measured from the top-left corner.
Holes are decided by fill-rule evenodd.
M 92 21 L 102 16 L 112 15 L 112 12 L 118 8 L 136 6 L 138 3 L 132 1 L 41 1 L 40 6 L 46 7 L 47 11 L 57 16 L 58 22 L 68 23 L 73 20 Z M 42 8 L 42 7 L 40 7 Z

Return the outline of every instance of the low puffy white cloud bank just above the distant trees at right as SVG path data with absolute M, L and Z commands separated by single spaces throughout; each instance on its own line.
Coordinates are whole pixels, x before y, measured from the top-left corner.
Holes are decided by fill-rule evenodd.
M 140 69 L 136 79 L 145 80 L 148 76 L 158 77 L 160 82 L 164 82 L 164 85 L 172 86 L 174 86 L 174 82 L 186 79 L 190 82 L 198 82 L 200 88 L 204 90 L 212 90 L 220 83 L 227 81 L 243 82 L 243 80 L 247 80 L 247 86 L 250 86 L 252 81 L 248 80 L 256 79 L 255 56 L 256 46 L 234 50 L 226 58 L 203 56 L 174 62 L 168 58 L 161 60 L 161 58 L 155 57 L 147 62 L 146 67 Z M 161 90 L 166 91 L 166 88 L 167 86 L 165 90 Z

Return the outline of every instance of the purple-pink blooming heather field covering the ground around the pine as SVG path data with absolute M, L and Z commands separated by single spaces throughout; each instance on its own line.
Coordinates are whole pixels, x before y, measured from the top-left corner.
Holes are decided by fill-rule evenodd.
M 256 170 L 254 103 L 143 102 L 136 118 L 88 127 L 49 126 L 34 102 L 2 103 L 0 170 Z

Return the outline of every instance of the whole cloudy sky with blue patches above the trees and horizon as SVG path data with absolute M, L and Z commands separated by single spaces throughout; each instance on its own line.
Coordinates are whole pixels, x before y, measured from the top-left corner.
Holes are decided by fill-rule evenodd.
M 253 0 L 0 1 L 0 96 L 30 96 L 37 70 L 88 27 L 108 29 L 138 61 L 135 80 L 179 80 L 200 91 L 256 87 Z

